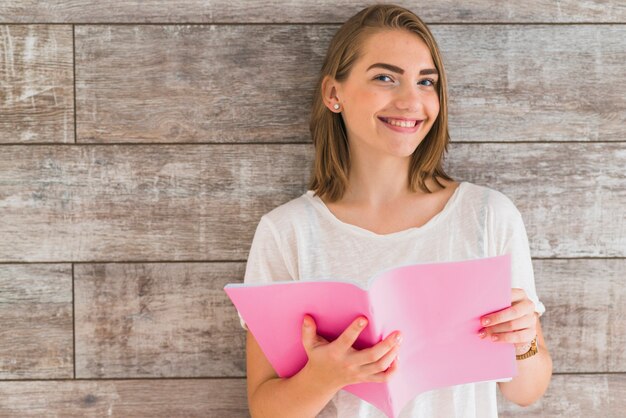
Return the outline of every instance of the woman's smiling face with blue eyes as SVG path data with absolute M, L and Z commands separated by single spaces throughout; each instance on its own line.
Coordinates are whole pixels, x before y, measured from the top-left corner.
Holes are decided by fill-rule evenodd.
M 387 30 L 368 36 L 362 53 L 336 85 L 351 152 L 408 157 L 439 114 L 430 50 L 414 33 Z M 398 119 L 408 127 L 393 126 Z

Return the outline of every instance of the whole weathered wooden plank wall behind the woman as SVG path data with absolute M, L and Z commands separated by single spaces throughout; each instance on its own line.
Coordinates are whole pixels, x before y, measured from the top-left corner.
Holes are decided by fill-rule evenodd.
M 0 417 L 248 416 L 222 288 L 304 192 L 313 82 L 366 4 L 0 3 Z M 501 415 L 620 416 L 626 6 L 398 4 L 443 51 L 449 172 L 528 230 L 555 375 Z

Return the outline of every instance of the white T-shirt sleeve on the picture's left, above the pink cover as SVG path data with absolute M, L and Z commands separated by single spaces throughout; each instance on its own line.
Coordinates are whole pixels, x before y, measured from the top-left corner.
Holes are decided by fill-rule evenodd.
M 243 282 L 261 284 L 291 279 L 276 229 L 263 215 L 252 239 Z M 237 314 L 242 328 L 247 330 L 243 317 L 239 312 Z

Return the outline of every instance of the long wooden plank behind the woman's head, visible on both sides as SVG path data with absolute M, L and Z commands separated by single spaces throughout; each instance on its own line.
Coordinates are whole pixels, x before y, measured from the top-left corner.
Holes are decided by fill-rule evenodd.
M 77 26 L 78 142 L 309 142 L 313 87 L 335 30 Z M 626 136 L 626 26 L 433 32 L 450 80 L 454 141 Z

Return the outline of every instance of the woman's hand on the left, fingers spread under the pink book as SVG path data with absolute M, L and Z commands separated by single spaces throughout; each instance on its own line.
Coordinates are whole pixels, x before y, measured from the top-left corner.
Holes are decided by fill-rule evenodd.
M 315 320 L 310 315 L 304 316 L 302 344 L 309 358 L 305 368 L 316 384 L 339 390 L 350 384 L 389 380 L 398 367 L 396 354 L 400 342 L 396 342 L 396 336 L 400 332 L 392 332 L 370 348 L 356 350 L 352 345 L 366 326 L 367 318 L 360 316 L 329 343 L 317 334 Z

